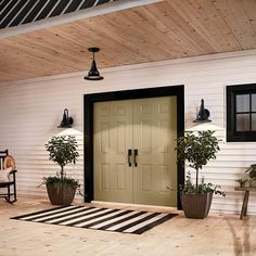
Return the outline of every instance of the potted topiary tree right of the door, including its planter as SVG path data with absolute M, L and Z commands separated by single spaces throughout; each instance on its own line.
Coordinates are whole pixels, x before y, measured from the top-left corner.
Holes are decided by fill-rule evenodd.
M 185 131 L 183 137 L 177 139 L 177 158 L 195 169 L 195 184 L 191 181 L 190 172 L 183 185 L 180 185 L 181 205 L 187 218 L 203 219 L 207 217 L 213 194 L 225 195 L 220 185 L 206 183 L 204 179 L 199 183 L 199 171 L 209 159 L 216 158 L 219 149 L 219 140 L 214 136 L 215 131 L 199 131 L 195 136 L 192 131 Z

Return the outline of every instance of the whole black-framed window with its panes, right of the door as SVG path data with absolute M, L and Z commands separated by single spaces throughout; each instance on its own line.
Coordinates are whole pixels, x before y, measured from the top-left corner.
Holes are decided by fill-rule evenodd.
M 227 86 L 227 141 L 256 141 L 256 84 Z

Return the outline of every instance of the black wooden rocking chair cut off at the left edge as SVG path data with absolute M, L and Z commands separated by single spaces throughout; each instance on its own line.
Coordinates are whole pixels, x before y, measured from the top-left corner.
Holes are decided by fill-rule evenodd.
M 9 156 L 8 150 L 5 151 L 0 151 L 0 169 L 2 170 L 4 167 L 4 158 Z M 11 156 L 9 156 L 11 157 Z M 8 158 L 5 158 L 8 159 Z M 10 180 L 8 182 L 1 182 L 0 181 L 0 197 L 4 197 L 8 203 L 12 204 L 15 201 L 17 201 L 16 197 L 16 177 L 15 174 L 17 172 L 16 169 L 12 169 L 10 174 Z M 3 190 L 5 190 L 5 193 L 3 193 Z

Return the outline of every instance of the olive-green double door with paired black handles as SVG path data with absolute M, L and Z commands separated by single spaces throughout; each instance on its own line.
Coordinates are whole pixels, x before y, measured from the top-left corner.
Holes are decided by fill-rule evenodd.
M 177 206 L 176 97 L 94 103 L 94 200 Z

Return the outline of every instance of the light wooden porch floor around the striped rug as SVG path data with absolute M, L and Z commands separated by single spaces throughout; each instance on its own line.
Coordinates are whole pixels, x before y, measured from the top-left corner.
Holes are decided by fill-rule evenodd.
M 239 215 L 210 213 L 195 220 L 180 212 L 140 235 L 10 219 L 49 207 L 42 197 L 20 197 L 14 205 L 0 199 L 0 256 L 256 256 L 256 216 L 240 220 Z

